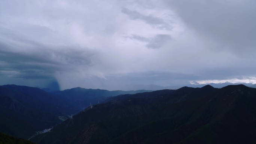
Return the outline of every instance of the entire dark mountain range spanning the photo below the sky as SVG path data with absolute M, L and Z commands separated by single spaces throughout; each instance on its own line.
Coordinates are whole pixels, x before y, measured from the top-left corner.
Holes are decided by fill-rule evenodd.
M 255 144 L 256 89 L 158 91 L 0 86 L 0 141 L 37 144 Z M 37 132 L 37 133 L 36 133 Z M 7 142 L 7 143 L 8 143 Z M 6 143 L 6 144 L 7 144 Z

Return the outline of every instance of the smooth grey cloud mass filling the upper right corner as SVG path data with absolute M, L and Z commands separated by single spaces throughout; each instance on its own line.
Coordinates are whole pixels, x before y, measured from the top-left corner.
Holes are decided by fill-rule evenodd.
M 255 0 L 171 0 L 166 1 L 185 24 L 205 40 L 240 55 L 256 47 Z

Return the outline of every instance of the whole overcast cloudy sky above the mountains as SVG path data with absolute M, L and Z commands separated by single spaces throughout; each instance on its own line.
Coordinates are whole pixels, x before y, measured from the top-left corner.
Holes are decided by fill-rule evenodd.
M 1 0 L 0 85 L 256 83 L 255 0 Z

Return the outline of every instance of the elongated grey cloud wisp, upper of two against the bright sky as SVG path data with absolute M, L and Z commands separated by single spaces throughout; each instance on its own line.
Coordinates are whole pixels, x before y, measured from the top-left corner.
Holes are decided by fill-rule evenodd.
M 170 23 L 165 22 L 163 18 L 158 18 L 152 15 L 144 15 L 136 10 L 129 10 L 127 8 L 122 9 L 122 13 L 125 13 L 129 16 L 129 18 L 133 20 L 142 20 L 145 21 L 147 24 L 152 25 L 153 27 L 160 28 L 163 30 L 171 30 L 172 26 Z

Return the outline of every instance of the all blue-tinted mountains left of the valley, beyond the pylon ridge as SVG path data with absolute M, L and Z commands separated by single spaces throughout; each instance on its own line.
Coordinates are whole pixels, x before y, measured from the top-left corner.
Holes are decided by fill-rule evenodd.
M 51 128 L 76 114 L 83 107 L 104 101 L 107 96 L 142 91 L 106 91 L 74 88 L 50 94 L 39 88 L 0 86 L 0 132 L 29 138 L 37 131 Z

